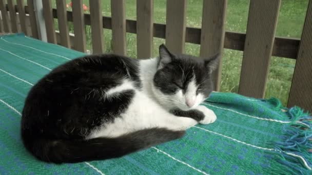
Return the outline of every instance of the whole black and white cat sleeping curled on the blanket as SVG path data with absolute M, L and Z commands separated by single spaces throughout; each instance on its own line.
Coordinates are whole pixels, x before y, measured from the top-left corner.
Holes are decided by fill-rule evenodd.
M 212 91 L 218 55 L 175 55 L 165 45 L 159 53 L 147 60 L 88 55 L 55 68 L 25 101 L 25 147 L 54 163 L 110 159 L 214 122 L 199 104 Z

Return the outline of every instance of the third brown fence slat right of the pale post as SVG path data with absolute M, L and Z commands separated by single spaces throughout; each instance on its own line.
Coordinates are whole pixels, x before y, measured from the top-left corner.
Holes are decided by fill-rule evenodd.
M 86 52 L 86 30 L 82 0 L 72 1 L 72 17 L 74 23 L 74 48 Z

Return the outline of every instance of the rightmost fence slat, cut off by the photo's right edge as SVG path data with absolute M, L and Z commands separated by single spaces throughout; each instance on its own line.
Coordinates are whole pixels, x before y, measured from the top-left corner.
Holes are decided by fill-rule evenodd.
M 300 106 L 312 112 L 312 0 L 309 1 L 299 52 L 290 87 L 288 107 Z

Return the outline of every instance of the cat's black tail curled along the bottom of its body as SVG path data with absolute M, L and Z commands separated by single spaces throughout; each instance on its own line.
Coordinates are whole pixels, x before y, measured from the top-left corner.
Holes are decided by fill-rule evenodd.
M 74 163 L 118 158 L 140 149 L 181 138 L 185 131 L 149 128 L 117 138 L 89 140 L 37 139 L 24 144 L 40 160 L 54 163 Z M 26 141 L 26 142 L 25 142 Z

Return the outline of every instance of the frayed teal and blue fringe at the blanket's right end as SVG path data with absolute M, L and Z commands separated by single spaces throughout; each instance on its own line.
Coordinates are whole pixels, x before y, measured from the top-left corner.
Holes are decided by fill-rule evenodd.
M 282 108 L 282 106 L 280 106 Z M 300 107 L 285 112 L 292 121 L 283 127 L 281 141 L 274 142 L 277 161 L 292 173 L 312 173 L 312 117 Z

